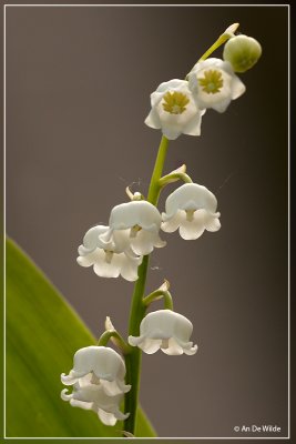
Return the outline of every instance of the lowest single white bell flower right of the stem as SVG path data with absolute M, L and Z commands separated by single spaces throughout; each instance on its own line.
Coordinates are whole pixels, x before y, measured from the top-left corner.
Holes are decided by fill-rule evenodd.
M 149 313 L 141 322 L 140 336 L 129 336 L 132 346 L 139 346 L 143 352 L 152 354 L 162 350 L 169 355 L 195 354 L 197 345 L 193 346 L 190 336 L 193 325 L 182 314 L 171 310 L 159 310 Z

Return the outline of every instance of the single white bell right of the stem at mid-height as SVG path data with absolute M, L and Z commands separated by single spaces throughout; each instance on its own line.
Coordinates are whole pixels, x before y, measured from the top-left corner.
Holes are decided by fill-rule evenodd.
M 205 230 L 221 228 L 217 200 L 214 194 L 197 183 L 185 183 L 169 195 L 165 213 L 162 213 L 162 230 L 172 233 L 178 229 L 181 238 L 194 240 Z

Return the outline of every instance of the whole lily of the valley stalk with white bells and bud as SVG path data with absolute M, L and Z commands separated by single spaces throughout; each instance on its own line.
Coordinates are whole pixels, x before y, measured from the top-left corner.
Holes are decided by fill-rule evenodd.
M 145 123 L 161 130 L 162 139 L 146 198 L 141 192 L 115 205 L 108 225 L 86 231 L 79 246 L 78 263 L 92 268 L 102 278 L 134 281 L 129 322 L 124 340 L 106 317 L 105 331 L 96 345 L 76 351 L 73 369 L 62 374 L 61 397 L 72 406 L 94 411 L 106 425 L 124 421 L 123 435 L 134 436 L 140 390 L 142 351 L 162 351 L 166 355 L 194 355 L 197 345 L 191 341 L 193 325 L 174 311 L 167 280 L 151 294 L 145 294 L 150 254 L 164 248 L 161 232 L 178 231 L 184 240 L 197 240 L 205 231 L 221 228 L 215 195 L 194 183 L 182 165 L 163 175 L 170 140 L 181 134 L 200 137 L 207 110 L 224 112 L 246 87 L 236 75 L 252 68 L 261 57 L 259 43 L 247 36 L 235 36 L 234 23 L 200 58 L 185 79 L 162 82 L 151 94 L 151 111 Z M 208 58 L 224 44 L 223 60 Z M 157 209 L 162 190 L 174 182 L 184 182 L 166 199 L 164 211 Z M 150 311 L 163 300 L 163 310 Z M 150 311 L 150 312 L 149 312 Z M 111 342 L 118 351 L 106 346 Z M 170 359 L 170 357 L 167 357 Z M 191 357 L 193 359 L 193 357 Z

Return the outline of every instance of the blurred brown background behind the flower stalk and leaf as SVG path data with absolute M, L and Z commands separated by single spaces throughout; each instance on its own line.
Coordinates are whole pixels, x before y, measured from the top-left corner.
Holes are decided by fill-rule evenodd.
M 76 248 L 126 185 L 147 191 L 161 137 L 143 123 L 150 93 L 184 78 L 233 22 L 263 46 L 241 77 L 246 93 L 208 111 L 201 138 L 170 145 L 165 172 L 186 163 L 216 194 L 222 229 L 192 242 L 163 234 L 151 261 L 147 292 L 171 282 L 200 346 L 143 356 L 141 402 L 160 436 L 239 436 L 244 424 L 287 435 L 287 17 L 286 7 L 7 8 L 7 231 L 96 336 L 105 315 L 126 333 L 133 285 L 80 268 Z

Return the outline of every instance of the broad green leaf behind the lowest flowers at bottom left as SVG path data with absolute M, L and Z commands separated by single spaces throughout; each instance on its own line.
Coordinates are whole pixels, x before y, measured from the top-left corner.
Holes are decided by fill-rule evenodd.
M 61 373 L 94 337 L 32 261 L 7 241 L 7 436 L 121 437 L 122 423 L 104 426 L 94 412 L 60 398 Z M 136 436 L 155 436 L 139 411 Z

